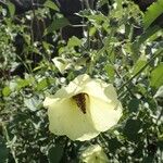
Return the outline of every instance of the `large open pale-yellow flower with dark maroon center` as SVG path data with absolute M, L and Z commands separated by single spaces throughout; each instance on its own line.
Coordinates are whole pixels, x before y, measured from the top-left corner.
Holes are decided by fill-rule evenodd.
M 89 140 L 114 126 L 122 116 L 122 105 L 111 84 L 77 76 L 66 87 L 47 97 L 49 129 L 72 140 Z

